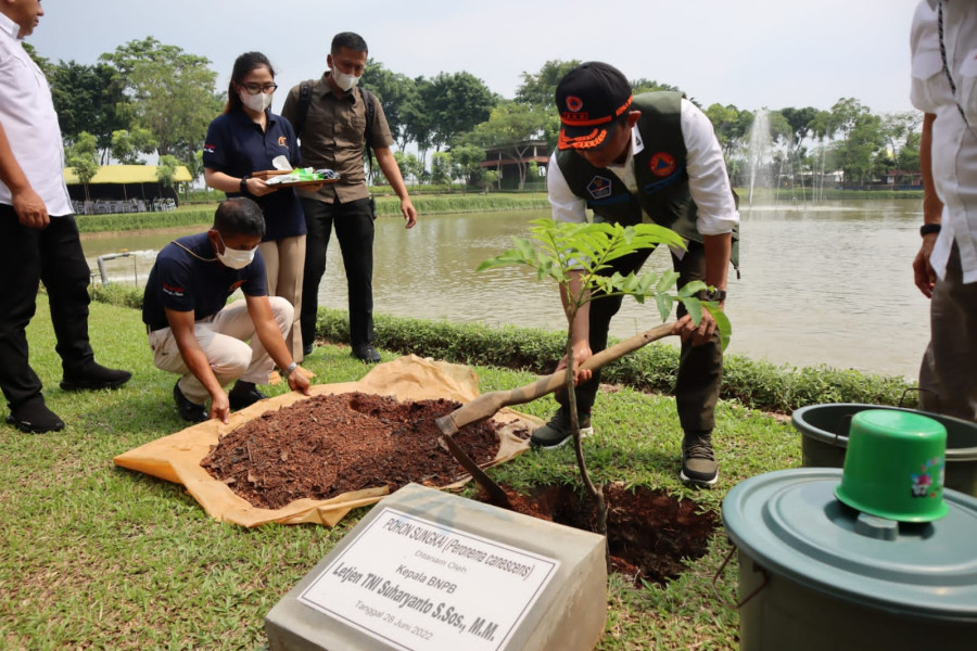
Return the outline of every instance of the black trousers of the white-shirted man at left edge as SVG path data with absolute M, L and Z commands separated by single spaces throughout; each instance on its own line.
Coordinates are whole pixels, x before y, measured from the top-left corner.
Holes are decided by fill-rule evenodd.
M 41 381 L 27 360 L 26 328 L 45 283 L 66 373 L 94 359 L 88 341 L 88 263 L 71 215 L 52 217 L 45 229 L 21 226 L 13 207 L 0 204 L 0 388 L 16 408 L 38 396 Z

